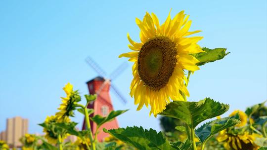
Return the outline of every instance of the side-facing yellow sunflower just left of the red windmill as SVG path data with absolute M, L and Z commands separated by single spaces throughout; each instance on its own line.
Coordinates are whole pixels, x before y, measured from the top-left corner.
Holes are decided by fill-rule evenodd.
M 65 117 L 74 116 L 75 104 L 81 101 L 78 91 L 73 91 L 73 85 L 70 83 L 67 83 L 63 90 L 67 96 L 61 97 L 62 104 L 58 108 L 59 112 L 56 112 L 58 122 L 63 122 Z

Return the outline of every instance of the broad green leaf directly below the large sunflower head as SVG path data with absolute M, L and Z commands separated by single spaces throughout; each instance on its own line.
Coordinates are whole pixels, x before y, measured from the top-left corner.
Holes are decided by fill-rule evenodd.
M 174 101 L 166 106 L 161 115 L 178 118 L 195 128 L 202 121 L 219 116 L 228 111 L 229 105 L 205 98 L 199 102 Z

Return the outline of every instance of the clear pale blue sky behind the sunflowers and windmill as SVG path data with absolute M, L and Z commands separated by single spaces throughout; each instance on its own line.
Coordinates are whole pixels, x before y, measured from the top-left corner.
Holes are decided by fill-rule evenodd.
M 189 101 L 211 97 L 230 104 L 230 113 L 267 99 L 266 0 L 1 0 L 0 1 L 0 130 L 5 119 L 29 118 L 29 132 L 42 132 L 38 123 L 54 114 L 70 82 L 87 94 L 86 81 L 97 74 L 86 64 L 90 56 L 107 73 L 127 59 L 127 33 L 139 40 L 135 17 L 146 11 L 165 21 L 180 10 L 190 15 L 191 31 L 202 30 L 201 46 L 225 47 L 231 53 L 191 76 Z M 132 64 L 113 83 L 128 99 L 122 105 L 111 93 L 121 127 L 142 125 L 160 130 L 149 110 L 136 112 L 129 96 Z M 85 102 L 83 100 L 83 102 Z M 82 122 L 76 113 L 74 121 Z

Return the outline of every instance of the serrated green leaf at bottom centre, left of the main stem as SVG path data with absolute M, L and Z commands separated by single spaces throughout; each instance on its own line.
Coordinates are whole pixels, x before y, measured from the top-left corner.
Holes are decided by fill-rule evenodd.
M 170 145 L 161 132 L 157 133 L 151 128 L 148 131 L 134 126 L 112 130 L 103 128 L 103 131 L 138 150 L 177 150 Z

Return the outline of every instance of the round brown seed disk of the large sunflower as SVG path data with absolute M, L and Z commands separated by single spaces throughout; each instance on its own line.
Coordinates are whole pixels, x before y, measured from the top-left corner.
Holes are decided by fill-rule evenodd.
M 170 38 L 157 36 L 149 39 L 138 54 L 138 73 L 153 90 L 163 88 L 176 66 L 176 43 Z

